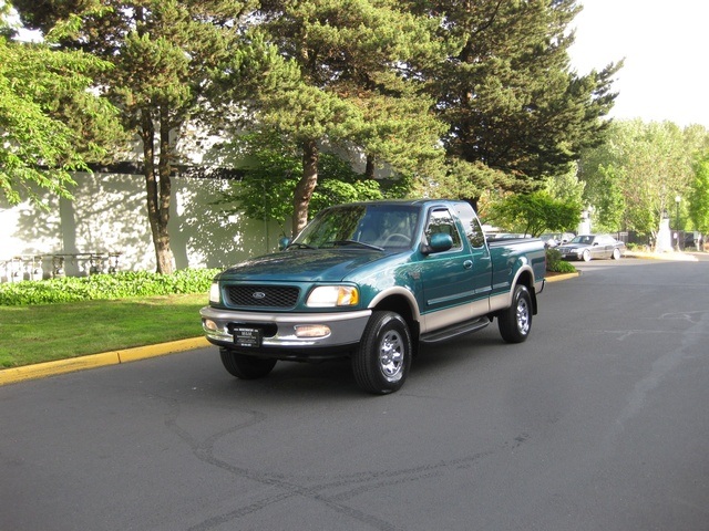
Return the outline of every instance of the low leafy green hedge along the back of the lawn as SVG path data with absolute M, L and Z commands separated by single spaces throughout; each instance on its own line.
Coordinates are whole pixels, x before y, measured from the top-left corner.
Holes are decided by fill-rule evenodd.
M 184 269 L 173 274 L 121 271 L 0 284 L 0 305 L 53 304 L 132 296 L 206 293 L 218 269 Z

